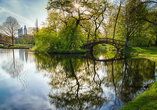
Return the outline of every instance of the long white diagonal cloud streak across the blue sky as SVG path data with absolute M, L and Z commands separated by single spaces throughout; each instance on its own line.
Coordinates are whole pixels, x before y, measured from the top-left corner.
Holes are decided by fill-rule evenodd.
M 31 20 L 29 20 L 29 19 L 27 19 L 27 18 L 25 18 L 25 17 L 23 17 L 21 15 L 18 15 L 18 14 L 14 13 L 14 12 L 11 12 L 11 11 L 3 8 L 3 7 L 0 7 L 0 8 L 1 8 L 0 14 L 4 14 L 5 13 L 5 15 L 13 16 L 13 17 L 15 17 L 17 19 L 17 21 L 20 21 L 20 22 L 22 22 L 24 24 L 29 24 L 30 26 L 35 24 Z

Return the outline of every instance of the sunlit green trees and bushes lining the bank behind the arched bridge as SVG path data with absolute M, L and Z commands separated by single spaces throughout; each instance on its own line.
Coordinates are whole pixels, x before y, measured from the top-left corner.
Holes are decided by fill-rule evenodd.
M 150 0 L 49 0 L 45 27 L 35 37 L 36 50 L 79 49 L 100 37 L 157 46 L 156 6 Z

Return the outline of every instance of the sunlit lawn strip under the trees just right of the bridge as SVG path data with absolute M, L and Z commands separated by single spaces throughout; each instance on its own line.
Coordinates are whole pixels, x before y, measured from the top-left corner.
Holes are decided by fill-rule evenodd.
M 122 52 L 157 61 L 157 47 L 128 47 L 122 50 Z

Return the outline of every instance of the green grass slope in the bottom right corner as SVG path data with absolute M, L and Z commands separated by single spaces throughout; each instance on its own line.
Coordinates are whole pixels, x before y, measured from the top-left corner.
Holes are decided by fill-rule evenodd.
M 157 82 L 134 101 L 126 104 L 121 110 L 157 110 Z

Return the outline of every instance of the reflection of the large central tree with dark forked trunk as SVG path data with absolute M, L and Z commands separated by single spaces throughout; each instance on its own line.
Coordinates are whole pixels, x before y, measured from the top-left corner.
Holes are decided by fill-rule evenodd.
M 49 68 L 54 72 L 49 84 L 57 91 L 49 93 L 50 103 L 55 104 L 57 108 L 67 109 L 101 108 L 107 99 L 102 87 L 97 86 L 96 78 L 93 81 L 90 74 L 85 73 L 85 60 L 71 56 L 65 58 L 58 58 L 62 60 L 58 62 L 55 70 Z

